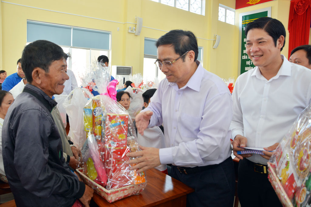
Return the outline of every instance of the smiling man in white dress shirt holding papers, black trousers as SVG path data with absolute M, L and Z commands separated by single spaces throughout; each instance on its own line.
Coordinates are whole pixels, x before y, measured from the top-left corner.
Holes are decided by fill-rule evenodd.
M 241 74 L 232 93 L 232 145 L 240 158 L 241 206 L 281 206 L 267 174 L 267 161 L 311 101 L 311 70 L 290 63 L 281 50 L 285 28 L 263 17 L 245 27 L 246 52 L 256 67 Z M 265 155 L 237 155 L 238 146 L 264 148 Z M 243 159 L 246 158 L 246 159 Z

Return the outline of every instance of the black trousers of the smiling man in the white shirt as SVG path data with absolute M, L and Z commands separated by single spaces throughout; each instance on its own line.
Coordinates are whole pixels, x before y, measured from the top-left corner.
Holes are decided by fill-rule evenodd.
M 241 207 L 282 206 L 268 174 L 254 172 L 254 163 L 244 158 L 239 161 L 238 196 Z

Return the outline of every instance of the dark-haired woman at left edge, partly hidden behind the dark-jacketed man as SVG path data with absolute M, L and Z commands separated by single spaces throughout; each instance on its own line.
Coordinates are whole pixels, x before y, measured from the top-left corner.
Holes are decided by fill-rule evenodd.
M 2 126 L 4 117 L 7 114 L 8 108 L 13 103 L 14 98 L 8 91 L 0 91 L 0 180 L 7 182 L 7 177 L 4 173 L 3 157 L 2 157 Z

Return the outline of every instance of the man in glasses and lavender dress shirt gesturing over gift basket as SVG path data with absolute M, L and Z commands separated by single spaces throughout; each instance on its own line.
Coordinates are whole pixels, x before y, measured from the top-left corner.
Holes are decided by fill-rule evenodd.
M 172 164 L 171 176 L 195 189 L 187 206 L 233 206 L 234 167 L 229 130 L 232 99 L 225 83 L 197 61 L 190 31 L 172 30 L 156 43 L 157 66 L 166 75 L 149 106 L 136 116 L 138 132 L 164 126 L 165 147 L 128 153 L 137 173 Z

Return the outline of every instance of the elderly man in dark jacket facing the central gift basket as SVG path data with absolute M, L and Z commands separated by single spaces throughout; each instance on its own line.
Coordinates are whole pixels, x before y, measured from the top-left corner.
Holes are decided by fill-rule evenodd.
M 89 206 L 93 189 L 80 182 L 63 157 L 51 111 L 54 94 L 68 79 L 67 54 L 37 40 L 24 48 L 21 64 L 28 83 L 9 108 L 2 129 L 4 169 L 17 206 Z

